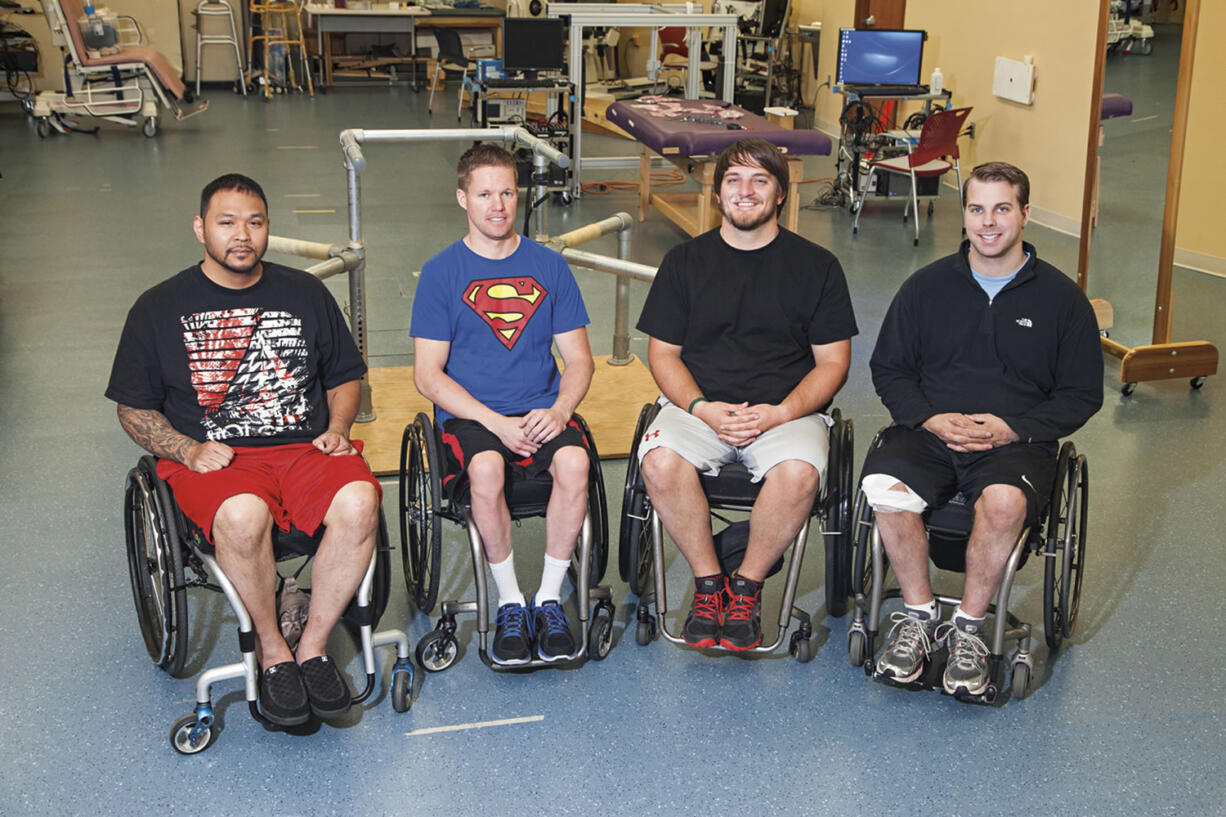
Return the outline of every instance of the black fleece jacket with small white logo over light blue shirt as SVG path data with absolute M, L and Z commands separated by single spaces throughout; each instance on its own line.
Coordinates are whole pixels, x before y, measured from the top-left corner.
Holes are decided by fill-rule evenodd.
M 1024 443 L 1056 442 L 1102 406 L 1098 324 L 1085 293 L 1030 259 L 988 302 L 970 243 L 907 278 L 877 337 L 873 385 L 894 422 L 992 413 Z

